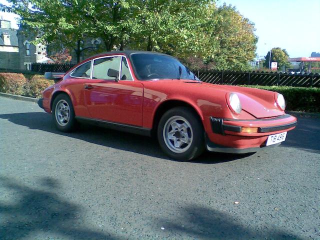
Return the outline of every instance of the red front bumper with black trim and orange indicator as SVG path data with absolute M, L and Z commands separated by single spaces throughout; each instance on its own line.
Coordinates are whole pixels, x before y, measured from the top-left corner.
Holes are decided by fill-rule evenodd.
M 209 151 L 247 153 L 266 147 L 269 135 L 292 130 L 296 125 L 296 118 L 289 114 L 256 119 L 211 116 L 204 117 L 203 123 L 206 129 L 206 148 Z M 247 132 L 247 128 L 255 128 L 255 132 Z

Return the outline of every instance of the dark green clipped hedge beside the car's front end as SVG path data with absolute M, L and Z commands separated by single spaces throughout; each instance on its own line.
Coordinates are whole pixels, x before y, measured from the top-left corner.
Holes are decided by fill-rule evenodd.
M 320 88 L 297 86 L 260 86 L 244 85 L 281 93 L 286 102 L 286 109 L 291 111 L 320 111 Z

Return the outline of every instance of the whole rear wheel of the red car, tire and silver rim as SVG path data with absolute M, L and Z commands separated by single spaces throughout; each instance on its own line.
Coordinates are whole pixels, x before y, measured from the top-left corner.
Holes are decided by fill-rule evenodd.
M 52 104 L 52 119 L 60 131 L 71 131 L 75 127 L 74 110 L 68 95 L 57 95 Z

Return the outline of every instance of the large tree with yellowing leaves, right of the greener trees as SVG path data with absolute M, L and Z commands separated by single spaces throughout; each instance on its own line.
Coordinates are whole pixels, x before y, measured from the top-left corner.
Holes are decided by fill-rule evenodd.
M 214 4 L 202 10 L 203 23 L 199 39 L 203 44 L 197 57 L 206 68 L 216 70 L 247 70 L 255 57 L 257 37 L 254 24 L 235 7 Z

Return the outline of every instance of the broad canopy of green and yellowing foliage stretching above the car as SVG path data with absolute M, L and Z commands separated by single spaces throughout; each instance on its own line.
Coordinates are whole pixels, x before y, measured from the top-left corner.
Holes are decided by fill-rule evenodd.
M 218 70 L 248 68 L 256 49 L 253 23 L 213 0 L 8 1 L 0 8 L 20 15 L 28 31 L 40 34 L 37 41 L 59 42 L 77 60 L 88 37 L 101 39 L 107 51 L 160 51 Z

